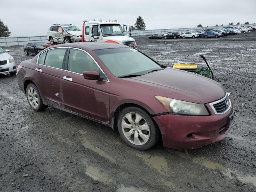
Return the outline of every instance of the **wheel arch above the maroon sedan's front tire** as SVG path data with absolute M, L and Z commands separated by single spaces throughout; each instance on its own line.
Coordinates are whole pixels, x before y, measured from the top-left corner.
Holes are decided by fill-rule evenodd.
M 146 112 L 152 118 L 152 115 L 145 108 L 143 108 L 142 106 L 139 106 L 139 105 L 134 104 L 134 103 L 124 103 L 124 104 L 118 106 L 118 108 L 116 108 L 116 111 L 114 112 L 113 119 L 111 120 L 112 128 L 113 128 L 114 131 L 117 131 L 117 120 L 118 120 L 118 116 L 119 116 L 120 112 L 124 108 L 127 108 L 127 107 L 138 107 L 138 108 L 144 110 L 144 112 Z M 156 122 L 153 118 L 152 118 L 152 120 L 156 124 Z M 156 124 L 156 127 L 158 128 L 158 130 L 160 132 L 160 129 L 159 129 L 157 124 Z M 160 132 L 160 134 L 161 134 L 161 132 Z

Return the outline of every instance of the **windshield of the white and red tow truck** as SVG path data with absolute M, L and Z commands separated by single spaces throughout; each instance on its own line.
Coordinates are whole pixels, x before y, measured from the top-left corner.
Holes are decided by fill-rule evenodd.
M 101 24 L 100 29 L 104 37 L 124 35 L 124 31 L 120 24 Z

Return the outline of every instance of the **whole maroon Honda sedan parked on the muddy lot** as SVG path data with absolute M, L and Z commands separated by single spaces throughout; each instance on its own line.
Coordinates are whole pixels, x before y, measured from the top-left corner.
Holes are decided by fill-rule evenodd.
M 138 150 L 194 149 L 225 138 L 233 104 L 217 82 L 107 43 L 51 46 L 18 66 L 35 111 L 51 106 L 118 130 Z M 100 136 L 100 135 L 99 135 Z

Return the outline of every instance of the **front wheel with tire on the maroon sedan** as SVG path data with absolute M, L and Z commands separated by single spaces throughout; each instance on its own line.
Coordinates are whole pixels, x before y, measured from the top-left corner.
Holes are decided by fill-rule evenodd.
M 120 136 L 132 148 L 147 150 L 159 140 L 160 132 L 156 123 L 141 108 L 123 109 L 117 123 Z

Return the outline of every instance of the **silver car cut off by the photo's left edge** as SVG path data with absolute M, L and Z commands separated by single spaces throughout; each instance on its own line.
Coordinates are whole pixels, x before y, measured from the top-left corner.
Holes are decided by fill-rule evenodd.
M 0 74 L 10 73 L 11 75 L 16 74 L 17 66 L 14 58 L 8 54 L 10 50 L 3 50 L 0 48 Z

